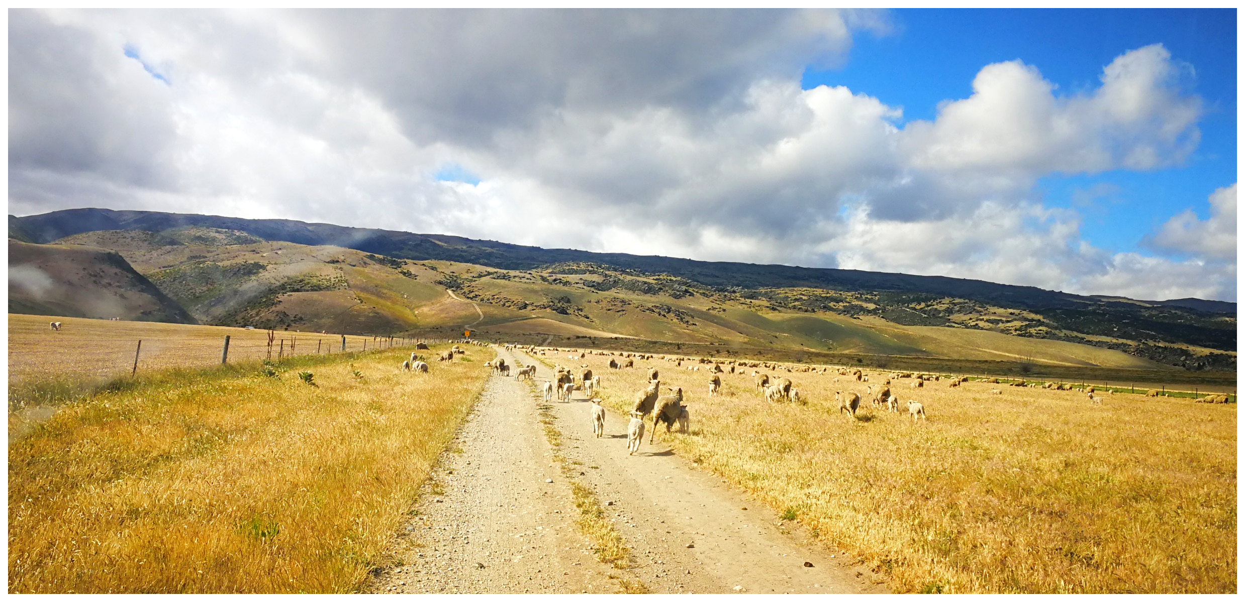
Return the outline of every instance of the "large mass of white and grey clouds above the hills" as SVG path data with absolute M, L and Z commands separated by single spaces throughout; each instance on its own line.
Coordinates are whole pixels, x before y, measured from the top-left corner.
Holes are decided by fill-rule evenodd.
M 1184 66 L 1120 49 L 1099 87 L 1058 96 L 1033 66 L 984 65 L 969 98 L 901 127 L 867 90 L 801 88 L 890 27 L 842 10 L 11 10 L 10 213 L 1140 286 L 1144 262 L 1069 251 L 1077 216 L 1033 188 L 1184 160 L 1201 114 Z M 991 235 L 951 243 L 947 224 Z M 906 250 L 878 246 L 896 235 Z

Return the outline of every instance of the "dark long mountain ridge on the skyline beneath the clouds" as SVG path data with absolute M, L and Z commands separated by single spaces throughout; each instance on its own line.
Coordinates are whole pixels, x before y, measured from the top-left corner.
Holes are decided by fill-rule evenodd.
M 670 274 L 713 287 L 814 287 L 908 291 L 982 301 L 1023 308 L 1077 308 L 1089 305 L 1144 303 L 1185 307 L 1201 312 L 1236 313 L 1236 303 L 1182 299 L 1170 301 L 1116 301 L 1123 297 L 1081 296 L 1033 286 L 1003 285 L 946 276 L 870 272 L 830 267 L 797 267 L 727 261 L 697 261 L 657 255 L 543 249 L 441 234 L 309 224 L 284 219 L 242 219 L 219 215 L 112 209 L 66 209 L 40 215 L 9 216 L 9 236 L 46 244 L 96 230 L 163 231 L 183 226 L 238 230 L 270 241 L 336 245 L 410 260 L 446 260 L 504 270 L 528 270 L 564 262 L 603 264 L 625 270 Z

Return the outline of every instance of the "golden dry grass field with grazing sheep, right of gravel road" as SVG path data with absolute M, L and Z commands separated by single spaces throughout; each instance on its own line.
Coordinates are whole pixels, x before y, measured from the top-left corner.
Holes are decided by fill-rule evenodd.
M 703 366 L 608 361 L 571 363 L 603 376 L 619 412 L 659 368 L 691 414 L 690 434 L 660 439 L 889 573 L 896 592 L 1236 591 L 1235 404 L 1113 394 L 1092 405 L 1077 392 L 900 379 L 900 414 L 865 399 L 853 420 L 834 391 L 868 383 L 834 373 L 758 368 L 794 381 L 808 404 L 792 405 L 766 402 L 753 368 L 722 374 L 708 397 Z M 885 378 L 872 374 L 875 387 Z M 928 422 L 909 418 L 909 399 Z

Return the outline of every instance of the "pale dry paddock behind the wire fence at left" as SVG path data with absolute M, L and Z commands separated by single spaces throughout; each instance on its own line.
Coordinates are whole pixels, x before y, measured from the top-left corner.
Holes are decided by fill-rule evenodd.
M 61 331 L 47 323 L 60 321 Z M 128 322 L 82 317 L 9 315 L 9 379 L 40 381 L 50 377 L 111 378 L 128 374 L 134 348 L 142 340 L 138 373 L 173 367 L 203 367 L 220 363 L 220 351 L 229 335 L 229 361 L 260 361 L 269 357 L 268 331 L 228 326 L 197 326 L 163 322 Z M 341 352 L 341 335 L 276 331 L 271 358 Z M 347 335 L 346 351 L 374 351 L 387 342 Z

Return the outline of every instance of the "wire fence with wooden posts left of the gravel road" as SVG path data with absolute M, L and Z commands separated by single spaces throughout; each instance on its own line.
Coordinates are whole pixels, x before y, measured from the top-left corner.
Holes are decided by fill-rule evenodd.
M 9 379 L 12 382 L 59 376 L 111 378 L 137 372 L 173 367 L 208 367 L 225 362 L 280 361 L 295 356 L 326 356 L 400 347 L 413 350 L 418 343 L 435 345 L 444 341 L 280 331 L 214 337 L 22 337 L 9 341 Z

